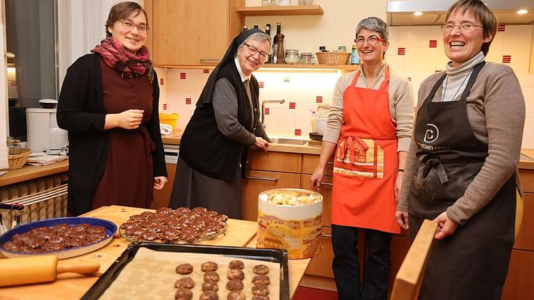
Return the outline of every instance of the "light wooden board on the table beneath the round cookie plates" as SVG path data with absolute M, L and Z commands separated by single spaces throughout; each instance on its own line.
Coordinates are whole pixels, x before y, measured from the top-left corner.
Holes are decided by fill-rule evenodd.
M 97 210 L 92 210 L 89 213 L 82 215 L 83 217 L 97 217 L 106 219 L 117 225 L 120 225 L 128 220 L 131 215 L 138 215 L 145 211 L 152 211 L 145 208 L 131 208 L 127 206 L 103 206 Z M 244 247 L 250 240 L 256 236 L 257 224 L 256 222 L 243 221 L 238 219 L 228 219 L 228 228 L 226 235 L 218 235 L 211 240 L 205 240 L 198 242 L 198 244 L 215 245 L 215 246 L 232 246 L 232 247 Z M 83 256 L 76 256 L 74 258 L 68 258 L 66 262 L 76 262 L 79 260 L 92 261 L 100 264 L 100 269 L 96 272 L 95 276 L 101 276 L 106 270 L 113 265 L 115 260 L 122 254 L 122 252 L 130 244 L 129 240 L 122 238 L 118 231 L 115 238 L 111 240 L 106 247 L 87 253 Z

